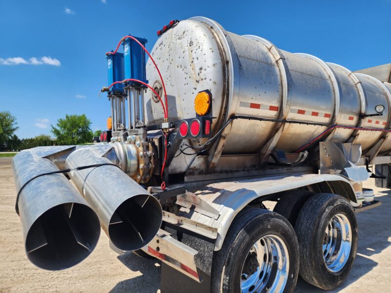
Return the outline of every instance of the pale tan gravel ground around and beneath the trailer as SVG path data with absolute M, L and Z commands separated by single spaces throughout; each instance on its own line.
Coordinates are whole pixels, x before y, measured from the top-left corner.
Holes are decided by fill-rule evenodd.
M 118 256 L 106 234 L 95 250 L 77 266 L 60 272 L 38 269 L 24 253 L 23 237 L 15 213 L 12 158 L 0 158 L 0 293 L 11 292 L 160 292 L 160 266 L 129 253 Z M 374 188 L 373 181 L 366 184 Z M 375 188 L 383 205 L 357 214 L 359 248 L 348 280 L 330 292 L 390 292 L 391 192 Z M 299 279 L 297 293 L 324 292 Z

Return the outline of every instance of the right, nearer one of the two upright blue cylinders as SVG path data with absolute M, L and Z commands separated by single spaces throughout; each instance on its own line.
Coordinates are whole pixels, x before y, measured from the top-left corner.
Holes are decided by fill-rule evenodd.
M 146 39 L 134 38 L 145 47 Z M 125 79 L 133 78 L 148 84 L 145 69 L 145 51 L 137 42 L 129 38 L 124 41 L 124 65 Z M 128 84 L 141 85 L 133 82 Z

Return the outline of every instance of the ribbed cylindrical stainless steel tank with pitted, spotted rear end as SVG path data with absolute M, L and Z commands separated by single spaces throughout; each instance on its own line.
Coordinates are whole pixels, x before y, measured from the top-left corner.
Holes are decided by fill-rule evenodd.
M 209 89 L 217 117 L 215 132 L 231 115 L 324 125 L 238 119 L 222 132 L 217 154 L 261 153 L 267 157 L 276 148 L 293 152 L 334 124 L 389 128 L 390 87 L 314 56 L 283 51 L 260 37 L 227 32 L 207 18 L 180 21 L 159 38 L 152 55 L 162 68 L 170 120 L 195 117 L 195 95 Z M 159 80 L 151 61 L 147 77 L 151 84 Z M 382 116 L 360 116 L 375 113 L 378 104 L 385 106 Z M 151 92 L 145 95 L 145 107 L 147 125 L 163 121 L 161 106 Z M 360 143 L 366 153 L 382 137 L 387 139 L 384 136 L 381 131 L 338 128 L 329 131 L 325 140 Z M 199 145 L 202 140 L 189 143 Z M 379 146 L 381 152 L 391 150 L 390 141 Z M 171 172 L 182 170 L 182 162 L 182 155 L 174 158 Z

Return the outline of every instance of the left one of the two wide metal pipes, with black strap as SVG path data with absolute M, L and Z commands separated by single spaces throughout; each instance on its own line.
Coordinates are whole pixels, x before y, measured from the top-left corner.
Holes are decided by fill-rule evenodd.
M 17 154 L 12 167 L 17 192 L 22 188 L 17 211 L 28 259 L 52 271 L 84 260 L 95 248 L 100 235 L 95 212 L 64 174 L 43 175 L 28 182 L 36 175 L 59 171 L 35 149 Z

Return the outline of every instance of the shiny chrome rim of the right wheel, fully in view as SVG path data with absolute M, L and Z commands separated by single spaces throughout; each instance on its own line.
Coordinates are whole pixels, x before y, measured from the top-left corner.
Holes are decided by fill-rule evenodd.
M 338 213 L 332 217 L 323 240 L 323 258 L 327 270 L 339 272 L 349 259 L 351 250 L 351 227 L 348 217 Z

